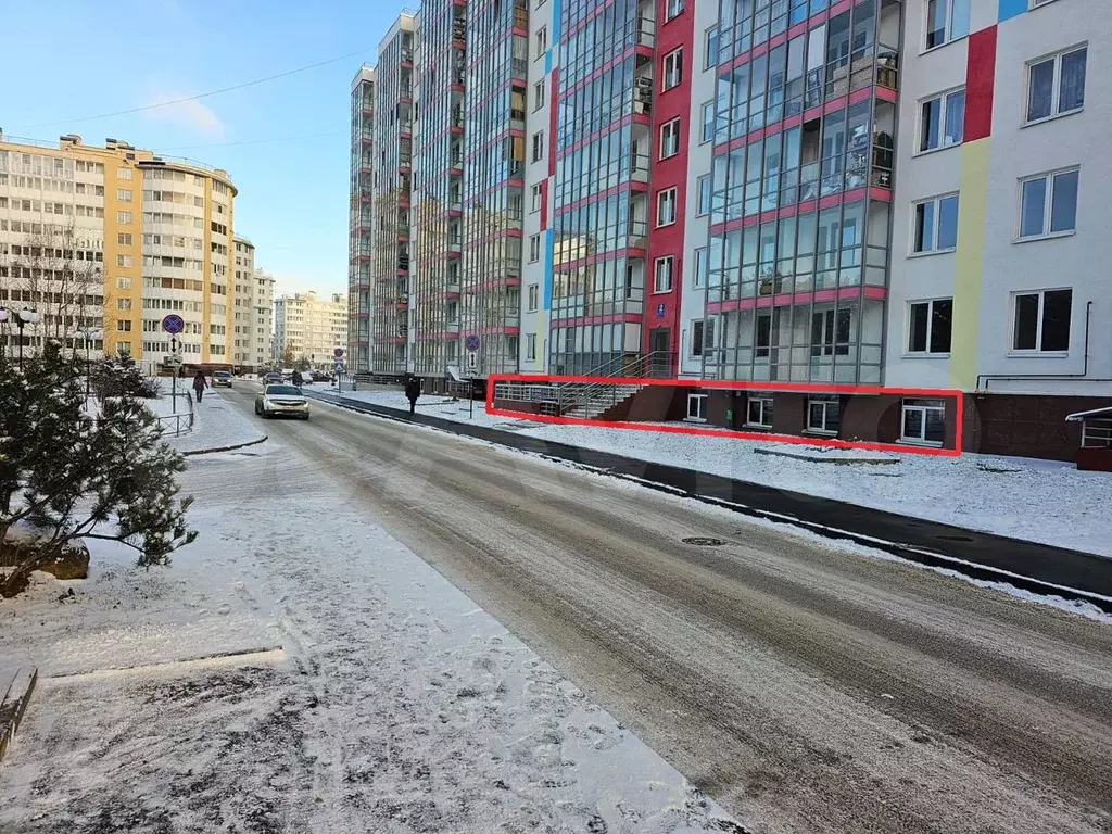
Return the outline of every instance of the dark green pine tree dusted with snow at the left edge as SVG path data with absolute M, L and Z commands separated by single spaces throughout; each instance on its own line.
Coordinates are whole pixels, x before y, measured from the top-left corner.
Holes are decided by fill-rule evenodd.
M 79 366 L 57 344 L 24 368 L 0 360 L 0 548 L 17 529 L 36 539 L 0 580 L 2 596 L 19 593 L 32 570 L 78 539 L 123 543 L 149 568 L 197 537 L 186 524 L 192 498 L 179 498 L 185 458 L 162 441 L 136 395 L 130 377 L 141 374 L 96 373 L 126 378 L 99 413 L 86 403 Z

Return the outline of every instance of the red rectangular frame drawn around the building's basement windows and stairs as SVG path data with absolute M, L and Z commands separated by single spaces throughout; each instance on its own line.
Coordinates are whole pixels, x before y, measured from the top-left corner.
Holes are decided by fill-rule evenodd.
M 887 394 L 904 397 L 953 397 L 957 404 L 954 420 L 954 448 L 935 448 L 894 443 L 868 443 L 864 440 L 838 440 L 836 438 L 801 435 L 773 435 L 766 431 L 735 431 L 728 428 L 695 428 L 692 426 L 647 426 L 643 423 L 625 420 L 593 420 L 585 417 L 554 417 L 544 414 L 526 414 L 494 407 L 494 388 L 497 383 L 607 383 L 610 385 L 671 385 L 685 388 L 716 388 L 727 390 L 757 390 L 784 394 Z M 801 446 L 826 446 L 835 449 L 864 449 L 866 451 L 893 451 L 901 455 L 931 455 L 934 457 L 961 457 L 962 431 L 964 428 L 965 393 L 957 388 L 885 388 L 872 385 L 822 385 L 818 383 L 738 383 L 722 379 L 645 379 L 642 377 L 576 377 L 543 376 L 528 374 L 492 374 L 487 379 L 486 413 L 495 417 L 516 417 L 534 423 L 549 423 L 560 426 L 590 426 L 594 428 L 632 429 L 634 431 L 658 431 L 666 435 L 704 435 L 726 437 L 737 440 L 764 440 Z

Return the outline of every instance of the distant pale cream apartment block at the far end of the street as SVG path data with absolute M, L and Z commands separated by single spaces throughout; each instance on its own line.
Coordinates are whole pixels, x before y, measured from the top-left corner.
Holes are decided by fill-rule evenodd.
M 348 298 L 337 292 L 295 292 L 275 299 L 275 351 L 279 360 L 308 359 L 314 368 L 330 370 L 336 348 L 348 345 Z

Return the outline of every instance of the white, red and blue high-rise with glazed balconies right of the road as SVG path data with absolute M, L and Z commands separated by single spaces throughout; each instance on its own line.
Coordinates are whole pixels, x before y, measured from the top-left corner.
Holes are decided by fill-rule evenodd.
M 873 430 L 1058 457 L 1065 415 L 1112 397 L 1103 162 L 1082 158 L 1108 123 L 1099 0 L 427 0 L 406 20 L 406 368 L 433 387 L 735 380 L 754 390 L 689 418 L 861 439 L 824 388 L 957 388 L 964 437 L 930 397 L 874 403 Z

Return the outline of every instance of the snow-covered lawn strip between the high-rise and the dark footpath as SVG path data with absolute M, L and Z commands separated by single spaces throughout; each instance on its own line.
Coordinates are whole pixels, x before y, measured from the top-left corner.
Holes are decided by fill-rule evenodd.
M 400 391 L 344 396 L 408 409 Z M 445 419 L 1112 557 L 1112 477 L 1078 471 L 1072 464 L 992 455 L 901 455 L 898 463 L 884 466 L 832 465 L 754 454 L 782 446 L 758 440 L 542 424 L 487 415 L 479 403 L 469 419 L 466 400 L 446 399 L 421 397 L 417 407 Z M 792 448 L 798 453 L 805 447 Z

